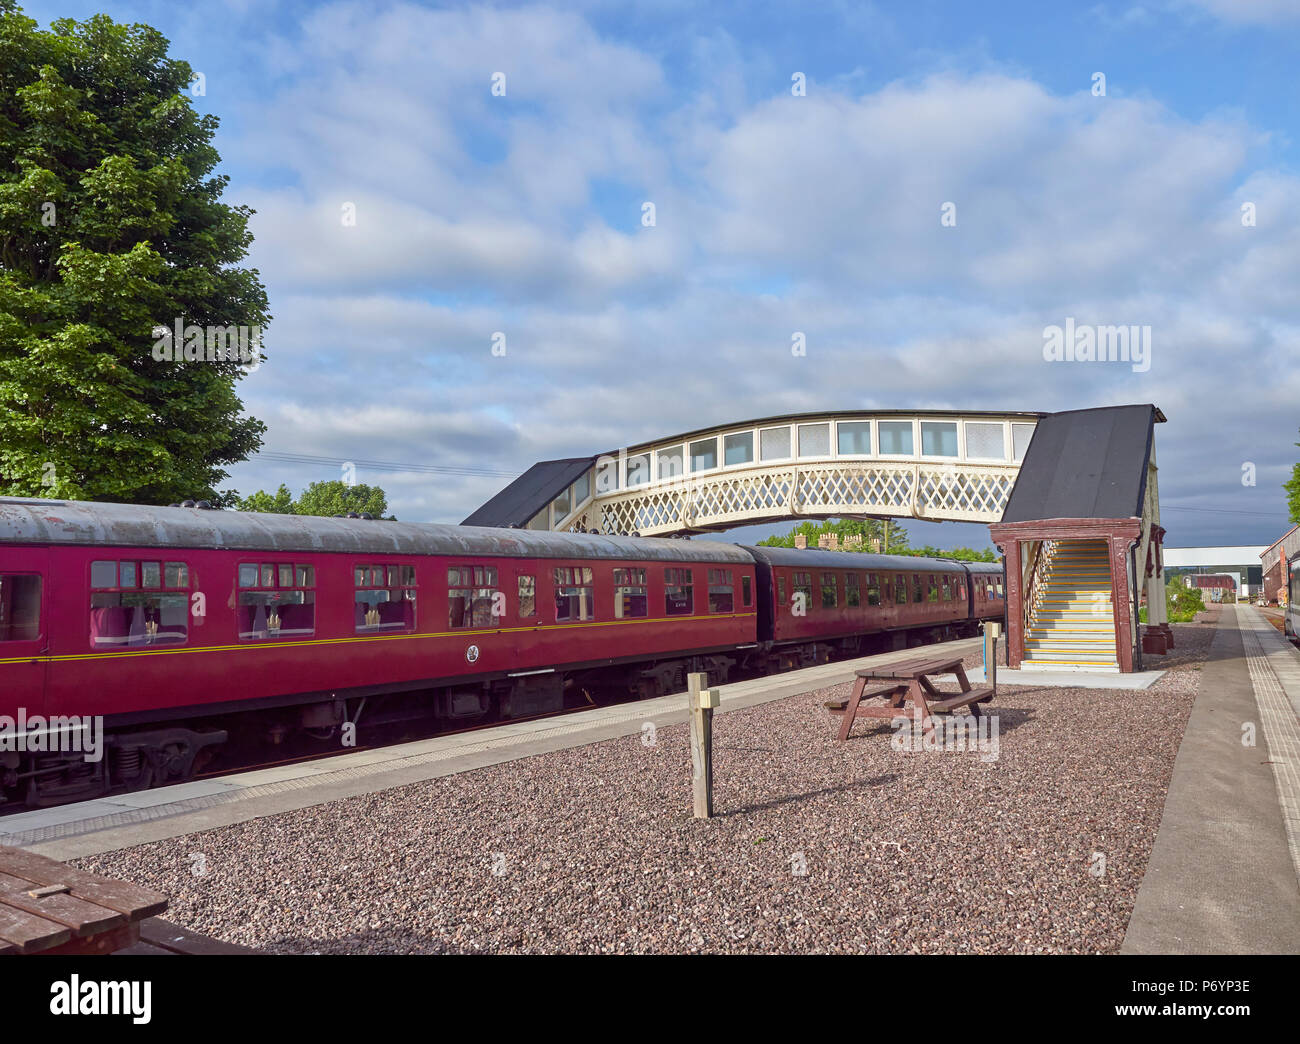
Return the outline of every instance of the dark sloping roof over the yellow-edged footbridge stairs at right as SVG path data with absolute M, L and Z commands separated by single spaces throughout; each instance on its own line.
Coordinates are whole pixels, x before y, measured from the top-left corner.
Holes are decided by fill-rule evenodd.
M 1149 403 L 1048 413 L 1002 521 L 1141 517 L 1154 426 L 1164 420 Z

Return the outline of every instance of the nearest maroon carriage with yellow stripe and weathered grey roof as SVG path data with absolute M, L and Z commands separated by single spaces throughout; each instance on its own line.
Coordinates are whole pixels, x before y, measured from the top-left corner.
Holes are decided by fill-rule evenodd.
M 0 793 L 185 779 L 237 712 L 328 737 L 724 681 L 754 581 L 729 543 L 0 498 L 0 715 L 110 733 L 99 763 L 0 751 Z

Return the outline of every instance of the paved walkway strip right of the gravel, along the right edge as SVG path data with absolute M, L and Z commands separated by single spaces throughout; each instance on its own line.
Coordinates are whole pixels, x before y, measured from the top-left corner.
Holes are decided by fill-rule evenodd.
M 1297 881 L 1300 653 L 1225 606 L 1121 953 L 1300 953 Z

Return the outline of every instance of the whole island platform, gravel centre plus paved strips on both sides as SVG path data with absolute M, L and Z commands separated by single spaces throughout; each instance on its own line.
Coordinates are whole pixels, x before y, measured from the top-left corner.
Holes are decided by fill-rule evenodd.
M 602 742 L 681 724 L 679 693 L 22 813 L 0 844 L 86 857 L 263 952 L 1300 952 L 1300 653 L 1251 607 L 1179 627 L 1150 688 L 1000 668 L 996 761 L 833 738 L 828 690 L 916 650 L 719 686 L 707 824 L 682 729 Z M 927 650 L 979 673 L 979 640 Z

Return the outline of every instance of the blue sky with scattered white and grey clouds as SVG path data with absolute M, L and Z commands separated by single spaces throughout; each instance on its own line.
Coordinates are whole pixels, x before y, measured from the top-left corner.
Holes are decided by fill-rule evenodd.
M 359 469 L 399 517 L 754 416 L 1153 402 L 1171 545 L 1286 525 L 1300 0 L 25 8 L 148 22 L 204 73 L 276 316 L 240 386 L 266 450 L 486 472 Z M 1150 325 L 1150 369 L 1045 363 L 1067 316 Z

